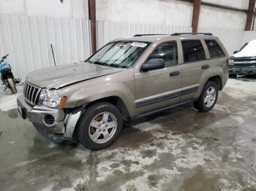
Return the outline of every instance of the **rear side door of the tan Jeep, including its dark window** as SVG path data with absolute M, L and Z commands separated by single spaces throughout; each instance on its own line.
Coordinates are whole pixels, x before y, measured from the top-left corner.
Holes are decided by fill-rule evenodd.
M 181 40 L 183 50 L 181 102 L 198 96 L 200 79 L 209 68 L 206 63 L 206 46 L 200 39 Z M 207 52 L 208 53 L 208 52 Z

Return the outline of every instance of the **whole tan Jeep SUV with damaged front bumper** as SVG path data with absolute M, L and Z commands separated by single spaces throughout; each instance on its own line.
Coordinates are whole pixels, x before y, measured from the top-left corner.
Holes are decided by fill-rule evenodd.
M 117 39 L 84 62 L 29 73 L 18 111 L 51 141 L 103 149 L 124 120 L 189 102 L 210 111 L 227 82 L 228 58 L 212 34 Z

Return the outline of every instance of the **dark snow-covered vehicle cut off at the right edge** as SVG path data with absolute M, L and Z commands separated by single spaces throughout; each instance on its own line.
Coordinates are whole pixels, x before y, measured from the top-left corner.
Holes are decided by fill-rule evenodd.
M 256 75 L 256 39 L 244 44 L 230 57 L 230 77 Z

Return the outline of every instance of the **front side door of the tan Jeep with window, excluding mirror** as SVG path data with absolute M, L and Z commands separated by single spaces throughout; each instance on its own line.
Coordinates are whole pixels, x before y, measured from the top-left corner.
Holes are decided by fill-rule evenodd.
M 135 106 L 139 115 L 180 101 L 181 65 L 178 64 L 177 42 L 159 44 L 146 61 L 151 58 L 162 58 L 165 68 L 140 71 L 135 76 Z

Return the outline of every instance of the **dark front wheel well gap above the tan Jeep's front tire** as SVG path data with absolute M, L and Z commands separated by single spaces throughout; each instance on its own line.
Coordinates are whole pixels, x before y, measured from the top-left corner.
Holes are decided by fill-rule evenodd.
M 116 106 L 119 111 L 121 112 L 124 120 L 129 120 L 130 116 L 129 116 L 129 112 L 127 109 L 127 106 L 125 106 L 124 101 L 122 101 L 121 98 L 119 98 L 118 96 L 110 96 L 107 98 L 101 98 L 95 101 L 91 101 L 86 107 L 97 104 L 99 102 L 108 102 L 110 104 L 113 104 L 114 106 Z

